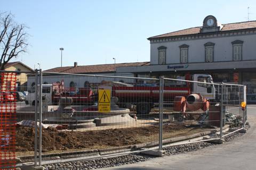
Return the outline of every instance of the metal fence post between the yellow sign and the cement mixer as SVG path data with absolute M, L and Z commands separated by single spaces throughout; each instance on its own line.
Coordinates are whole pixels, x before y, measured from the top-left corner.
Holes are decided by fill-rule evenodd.
M 164 77 L 159 79 L 159 146 L 158 150 L 163 149 L 163 103 L 164 103 Z

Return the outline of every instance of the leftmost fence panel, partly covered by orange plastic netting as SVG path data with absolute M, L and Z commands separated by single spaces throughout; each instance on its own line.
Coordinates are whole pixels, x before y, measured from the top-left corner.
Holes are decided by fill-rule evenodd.
M 0 74 L 0 168 L 14 169 L 20 157 L 30 155 L 34 162 L 35 108 L 26 104 L 27 80 L 34 72 L 0 71 Z

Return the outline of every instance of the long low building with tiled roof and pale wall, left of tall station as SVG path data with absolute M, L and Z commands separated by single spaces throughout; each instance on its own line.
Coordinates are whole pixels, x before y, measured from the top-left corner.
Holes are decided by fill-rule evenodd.
M 134 83 L 135 79 L 123 79 L 123 78 L 114 78 L 114 77 L 134 77 L 133 73 L 117 73 L 116 69 L 118 67 L 127 67 L 127 66 L 143 66 L 148 65 L 149 62 L 136 62 L 136 63 L 118 63 L 118 64 L 100 64 L 100 65 L 77 65 L 77 62 L 74 63 L 74 66 L 67 67 L 56 67 L 53 69 L 45 70 L 43 74 L 43 83 L 52 84 L 53 82 L 64 82 L 66 88 L 83 88 L 87 87 L 88 84 L 90 87 L 94 85 L 97 86 L 97 83 L 102 81 L 120 81 L 126 83 Z M 53 74 L 53 73 L 63 73 L 63 74 Z M 67 74 L 65 74 L 67 73 Z M 77 74 L 77 75 L 68 75 Z M 90 75 L 107 75 L 108 77 L 94 77 L 94 76 L 85 76 L 79 74 L 90 74 Z M 31 75 L 28 77 L 28 86 L 31 88 L 35 85 L 35 76 Z

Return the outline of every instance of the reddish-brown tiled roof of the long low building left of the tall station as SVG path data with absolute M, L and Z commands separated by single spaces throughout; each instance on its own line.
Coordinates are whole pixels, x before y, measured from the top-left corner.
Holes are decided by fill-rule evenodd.
M 137 63 L 117 63 L 117 64 L 99 64 L 99 65 L 78 65 L 78 66 L 66 66 L 55 67 L 53 69 L 45 70 L 45 72 L 57 72 L 57 73 L 103 73 L 103 72 L 115 72 L 116 67 L 127 66 L 143 66 L 149 65 L 150 62 L 137 62 Z

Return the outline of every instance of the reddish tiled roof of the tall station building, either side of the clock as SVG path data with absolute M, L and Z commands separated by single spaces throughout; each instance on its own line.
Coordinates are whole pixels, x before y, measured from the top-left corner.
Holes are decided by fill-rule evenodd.
M 222 24 L 222 26 L 223 27 L 221 28 L 220 32 L 251 29 L 251 28 L 256 28 L 256 21 L 228 23 L 228 24 Z M 193 27 L 193 28 L 183 29 L 183 30 L 179 30 L 179 31 L 164 33 L 164 34 L 158 35 L 158 36 L 149 37 L 148 39 L 195 35 L 195 34 L 200 33 L 201 28 L 203 28 L 203 27 Z

